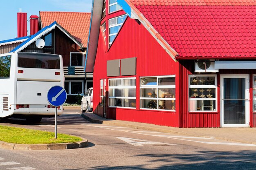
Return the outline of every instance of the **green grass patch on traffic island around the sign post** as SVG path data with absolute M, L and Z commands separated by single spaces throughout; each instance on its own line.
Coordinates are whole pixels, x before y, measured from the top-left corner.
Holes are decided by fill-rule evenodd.
M 55 139 L 54 132 L 0 126 L 0 141 L 13 144 L 60 144 L 82 141 L 80 137 L 58 133 Z

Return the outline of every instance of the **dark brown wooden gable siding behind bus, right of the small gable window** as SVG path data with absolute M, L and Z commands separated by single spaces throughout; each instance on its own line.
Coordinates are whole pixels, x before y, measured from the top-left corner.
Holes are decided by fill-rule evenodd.
M 63 66 L 70 66 L 70 52 L 79 52 L 80 47 L 59 29 L 55 29 L 55 35 L 55 53 L 62 55 Z

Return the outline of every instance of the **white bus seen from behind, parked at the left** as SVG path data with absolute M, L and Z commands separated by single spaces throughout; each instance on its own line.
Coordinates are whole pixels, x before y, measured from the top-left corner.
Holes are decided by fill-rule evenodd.
M 64 87 L 61 55 L 46 53 L 6 53 L 0 55 L 0 119 L 25 118 L 40 122 L 54 117 L 47 101 L 52 86 Z M 58 108 L 58 115 L 63 111 Z

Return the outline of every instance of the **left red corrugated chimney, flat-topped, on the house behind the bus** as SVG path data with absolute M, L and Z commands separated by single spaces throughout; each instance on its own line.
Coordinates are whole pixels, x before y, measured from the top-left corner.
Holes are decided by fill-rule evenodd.
M 27 36 L 27 13 L 18 12 L 18 38 Z

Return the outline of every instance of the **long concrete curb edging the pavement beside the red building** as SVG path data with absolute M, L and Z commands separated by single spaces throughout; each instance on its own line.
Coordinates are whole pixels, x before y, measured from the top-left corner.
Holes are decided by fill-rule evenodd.
M 254 141 L 244 141 L 239 139 L 229 139 L 225 137 L 215 137 L 215 136 L 205 136 L 205 135 L 195 135 L 195 134 L 191 135 L 190 133 L 186 133 L 186 132 L 177 132 L 175 130 L 164 129 L 165 126 L 163 126 L 164 128 L 163 127 L 157 128 L 157 127 L 147 127 L 143 125 L 132 125 L 132 124 L 117 122 L 116 120 L 113 120 L 113 119 L 104 120 L 105 118 L 102 118 L 102 117 L 99 117 L 99 119 L 92 119 L 87 115 L 84 115 L 83 113 L 82 113 L 82 117 L 84 117 L 85 119 L 87 119 L 92 123 L 97 123 L 97 124 L 107 124 L 107 125 L 121 126 L 121 127 L 134 128 L 134 129 L 140 129 L 140 130 L 151 130 L 156 132 L 172 133 L 172 134 L 185 135 L 185 136 L 191 136 L 191 137 L 204 137 L 204 138 L 219 139 L 219 140 L 225 140 L 225 141 L 233 141 L 233 142 L 239 142 L 244 144 L 256 145 L 256 142 Z M 123 122 L 126 122 L 126 121 L 123 121 Z M 154 126 L 158 126 L 158 125 L 154 125 Z

